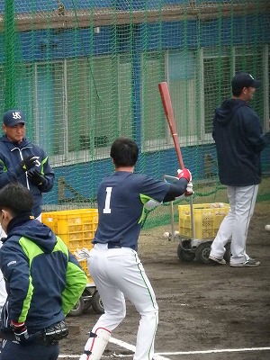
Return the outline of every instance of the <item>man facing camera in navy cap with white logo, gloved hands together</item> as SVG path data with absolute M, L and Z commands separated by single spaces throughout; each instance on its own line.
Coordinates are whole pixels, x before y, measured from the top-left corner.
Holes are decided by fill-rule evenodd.
M 42 193 L 48 193 L 54 182 L 45 151 L 25 138 L 25 116 L 21 110 L 9 110 L 3 116 L 4 136 L 0 138 L 0 188 L 14 181 L 27 187 L 33 197 L 32 213 L 41 213 Z M 31 157 L 35 157 L 31 162 Z M 23 167 L 23 159 L 30 159 Z M 31 165 L 29 165 L 29 163 Z

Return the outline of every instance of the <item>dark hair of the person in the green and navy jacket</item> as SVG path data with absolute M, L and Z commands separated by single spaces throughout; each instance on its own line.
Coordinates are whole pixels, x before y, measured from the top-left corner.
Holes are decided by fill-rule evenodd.
M 0 190 L 0 209 L 8 209 L 13 216 L 30 212 L 33 205 L 31 192 L 20 183 L 10 183 Z

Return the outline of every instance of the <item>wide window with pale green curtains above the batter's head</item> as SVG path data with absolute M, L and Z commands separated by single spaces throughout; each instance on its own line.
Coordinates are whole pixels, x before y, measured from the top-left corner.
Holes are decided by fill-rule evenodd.
M 131 136 L 127 58 L 67 59 L 35 69 L 35 140 L 54 166 L 108 157 L 113 139 Z

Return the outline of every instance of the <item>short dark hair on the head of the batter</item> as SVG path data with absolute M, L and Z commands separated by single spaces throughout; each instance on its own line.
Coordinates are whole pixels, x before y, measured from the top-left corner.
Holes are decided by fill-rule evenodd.
M 119 138 L 113 141 L 110 156 L 116 167 L 135 166 L 139 156 L 139 148 L 132 139 Z

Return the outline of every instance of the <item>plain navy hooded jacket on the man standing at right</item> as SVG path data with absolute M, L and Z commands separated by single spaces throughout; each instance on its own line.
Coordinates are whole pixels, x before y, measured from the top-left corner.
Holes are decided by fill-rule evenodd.
M 261 182 L 260 153 L 270 143 L 259 117 L 248 103 L 229 99 L 215 111 L 212 137 L 216 143 L 220 183 L 249 186 Z

